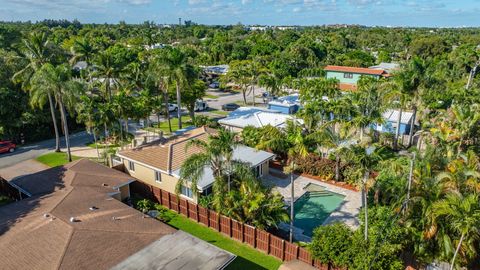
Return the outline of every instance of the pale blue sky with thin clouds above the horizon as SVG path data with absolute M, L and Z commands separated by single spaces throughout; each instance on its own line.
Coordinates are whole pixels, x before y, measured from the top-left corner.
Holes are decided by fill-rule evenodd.
M 0 0 L 0 21 L 480 27 L 480 0 Z

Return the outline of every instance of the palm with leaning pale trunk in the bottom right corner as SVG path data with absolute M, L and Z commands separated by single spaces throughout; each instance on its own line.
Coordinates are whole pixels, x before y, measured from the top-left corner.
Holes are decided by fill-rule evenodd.
M 453 233 L 457 236 L 460 235 L 450 263 L 450 270 L 455 267 L 459 252 L 464 258 L 473 258 L 477 254 L 472 240 L 478 240 L 480 236 L 480 204 L 478 201 L 478 194 L 463 196 L 452 193 L 433 205 L 435 219 L 442 220 L 443 224 L 448 226 Z

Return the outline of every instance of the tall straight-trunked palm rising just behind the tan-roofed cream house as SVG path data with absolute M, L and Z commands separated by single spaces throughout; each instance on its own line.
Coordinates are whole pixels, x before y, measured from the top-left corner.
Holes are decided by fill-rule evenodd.
M 190 82 L 195 77 L 195 72 L 193 67 L 187 63 L 187 56 L 177 48 L 168 50 L 167 53 L 163 54 L 161 61 L 166 66 L 167 76 L 170 77 L 170 80 L 175 82 L 176 95 L 177 95 L 177 117 L 178 117 L 178 128 L 182 128 L 182 96 L 181 88 L 190 84 Z

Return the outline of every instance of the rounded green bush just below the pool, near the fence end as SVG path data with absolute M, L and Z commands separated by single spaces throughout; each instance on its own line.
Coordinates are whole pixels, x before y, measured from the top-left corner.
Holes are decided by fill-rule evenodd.
M 350 262 L 352 236 L 353 232 L 342 223 L 320 226 L 313 232 L 309 250 L 323 264 L 344 267 Z

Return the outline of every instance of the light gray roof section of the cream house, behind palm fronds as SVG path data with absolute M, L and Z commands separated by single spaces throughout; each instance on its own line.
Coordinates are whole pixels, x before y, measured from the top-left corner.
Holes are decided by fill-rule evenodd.
M 255 167 L 266 160 L 273 159 L 274 157 L 275 155 L 272 153 L 268 153 L 262 150 L 256 150 L 254 148 L 244 145 L 239 145 L 233 150 L 232 159 L 248 163 L 251 167 Z M 181 168 L 175 170 L 173 174 L 179 176 L 180 170 Z M 205 188 L 212 185 L 214 181 L 215 178 L 213 177 L 212 169 L 210 168 L 210 166 L 205 166 L 203 168 L 202 178 L 198 180 L 197 186 L 200 190 L 204 190 Z

